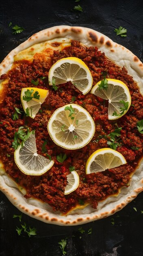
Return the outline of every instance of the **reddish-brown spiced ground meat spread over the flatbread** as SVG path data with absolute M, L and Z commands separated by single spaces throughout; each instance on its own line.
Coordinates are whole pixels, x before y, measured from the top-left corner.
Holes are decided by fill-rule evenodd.
M 80 58 L 86 63 L 93 76 L 93 85 L 102 80 L 103 72 L 106 72 L 106 78 L 119 79 L 128 86 L 132 97 L 132 106 L 126 115 L 110 121 L 107 115 L 108 101 L 90 93 L 83 95 L 71 82 L 58 85 L 58 90 L 54 91 L 48 85 L 48 79 L 41 79 L 43 76 L 48 77 L 50 67 L 56 61 L 70 56 Z M 143 118 L 143 97 L 125 67 L 120 68 L 109 61 L 97 47 L 83 47 L 78 41 L 72 40 L 71 47 L 67 47 L 61 52 L 54 51 L 51 63 L 49 60 L 46 62 L 45 58 L 19 61 L 11 71 L 1 76 L 1 79 L 7 78 L 9 78 L 9 82 L 4 88 L 4 101 L 0 111 L 0 157 L 6 173 L 26 188 L 26 198 L 38 198 L 50 204 L 55 211 L 66 213 L 77 204 L 85 204 L 85 202 L 89 202 L 93 208 L 97 208 L 98 201 L 117 193 L 121 186 L 129 186 L 130 173 L 135 170 L 143 148 L 143 135 L 137 129 L 137 122 Z M 37 88 L 49 90 L 49 95 L 41 105 L 41 110 L 35 119 L 26 117 L 22 112 L 22 114 L 18 114 L 19 119 L 13 120 L 15 107 L 23 111 L 20 101 L 21 89 L 31 87 L 31 80 L 37 81 L 37 79 L 39 81 Z M 87 146 L 79 150 L 65 150 L 57 146 L 47 130 L 48 120 L 56 108 L 69 103 L 75 103 L 85 108 L 95 121 L 96 129 L 93 139 Z M 20 126 L 29 127 L 30 130 L 35 129 L 37 153 L 44 157 L 47 157 L 48 154 L 54 160 L 54 166 L 50 171 L 41 176 L 25 175 L 14 162 L 12 142 L 15 131 Z M 104 172 L 86 175 L 85 164 L 88 157 L 99 148 L 109 147 L 109 134 L 117 127 L 122 129 L 119 140 L 115 141 L 117 142 L 116 149 L 124 155 L 127 164 Z M 47 144 L 43 153 L 44 141 L 47 141 Z M 56 159 L 60 153 L 67 155 L 63 164 Z M 67 175 L 70 173 L 69 166 L 75 166 L 80 177 L 80 184 L 76 191 L 64 195 Z

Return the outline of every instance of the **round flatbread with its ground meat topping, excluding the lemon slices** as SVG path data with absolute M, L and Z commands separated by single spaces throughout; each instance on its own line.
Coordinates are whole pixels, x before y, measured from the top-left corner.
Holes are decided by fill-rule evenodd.
M 49 85 L 52 65 L 69 57 L 84 61 L 93 86 L 105 76 L 128 86 L 132 105 L 123 117 L 108 120 L 108 101 L 90 92 L 83 95 L 70 81 L 59 84 L 57 90 Z M 56 26 L 13 49 L 0 64 L 0 76 L 0 189 L 20 211 L 47 223 L 79 225 L 112 215 L 143 191 L 143 135 L 137 129 L 143 119 L 143 63 L 137 56 L 93 29 Z M 37 85 L 31 81 L 38 81 Z M 32 87 L 49 91 L 34 119 L 24 114 L 20 99 L 22 88 Z M 57 146 L 47 130 L 54 111 L 72 103 L 84 108 L 95 122 L 89 144 L 76 150 Z M 13 118 L 15 108 L 20 110 L 17 118 Z M 37 153 L 54 161 L 43 175 L 26 175 L 15 164 L 12 143 L 20 127 L 35 130 Z M 115 137 L 117 128 L 121 134 L 114 146 L 127 164 L 86 175 L 88 158 L 98 149 L 110 148 L 109 136 Z M 60 153 L 66 155 L 63 163 L 57 160 Z M 65 195 L 69 167 L 77 171 L 80 182 Z

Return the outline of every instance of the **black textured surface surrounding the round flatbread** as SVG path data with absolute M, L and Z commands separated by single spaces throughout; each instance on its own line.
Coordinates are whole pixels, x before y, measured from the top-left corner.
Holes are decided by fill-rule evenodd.
M 83 12 L 74 11 L 80 4 Z M 12 34 L 12 25 L 25 28 Z M 1 0 L 0 62 L 17 45 L 42 29 L 55 25 L 90 27 L 124 45 L 143 61 L 142 0 Z M 114 29 L 125 27 L 127 37 L 116 36 Z M 137 210 L 135 210 L 135 209 Z M 58 242 L 67 237 L 67 256 L 143 256 L 143 193 L 124 209 L 106 219 L 80 226 L 48 225 L 23 214 L 22 223 L 36 227 L 37 235 L 18 236 L 20 214 L 5 195 L 0 193 L 0 255 L 62 256 Z M 92 234 L 87 231 L 92 227 Z

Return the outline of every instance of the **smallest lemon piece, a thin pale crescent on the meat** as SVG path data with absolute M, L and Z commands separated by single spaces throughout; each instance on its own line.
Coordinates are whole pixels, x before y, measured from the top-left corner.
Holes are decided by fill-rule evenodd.
M 76 171 L 72 171 L 67 175 L 67 186 L 65 187 L 65 195 L 75 191 L 79 186 L 79 176 Z

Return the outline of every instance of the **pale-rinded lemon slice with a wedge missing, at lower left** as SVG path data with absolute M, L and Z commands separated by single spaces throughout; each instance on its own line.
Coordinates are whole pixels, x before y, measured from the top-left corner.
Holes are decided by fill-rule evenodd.
M 24 146 L 18 146 L 14 153 L 15 163 L 22 173 L 26 175 L 42 175 L 54 164 L 42 155 L 37 154 L 35 135 L 30 135 Z

